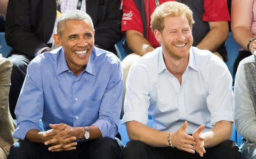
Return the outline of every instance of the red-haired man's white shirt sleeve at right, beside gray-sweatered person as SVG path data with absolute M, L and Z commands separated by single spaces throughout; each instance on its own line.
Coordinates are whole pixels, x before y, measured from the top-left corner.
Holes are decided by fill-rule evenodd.
M 219 62 L 209 71 L 209 95 L 206 102 L 211 112 L 211 125 L 214 126 L 221 120 L 234 122 L 235 99 L 231 74 L 223 62 Z

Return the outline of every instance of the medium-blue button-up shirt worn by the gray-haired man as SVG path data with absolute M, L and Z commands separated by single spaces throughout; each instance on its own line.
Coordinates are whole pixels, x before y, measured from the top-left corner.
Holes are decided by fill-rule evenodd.
M 119 59 L 93 48 L 85 70 L 76 76 L 62 48 L 38 55 L 30 62 L 15 114 L 12 136 L 24 139 L 30 129 L 44 130 L 49 124 L 71 127 L 96 125 L 102 137 L 115 137 L 122 105 L 123 69 Z

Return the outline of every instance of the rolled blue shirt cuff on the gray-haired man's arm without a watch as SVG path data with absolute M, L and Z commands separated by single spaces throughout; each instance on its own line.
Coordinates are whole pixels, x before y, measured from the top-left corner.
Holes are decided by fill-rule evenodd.
M 24 140 L 27 132 L 31 129 L 37 129 L 39 131 L 43 131 L 38 124 L 32 122 L 20 122 L 14 132 L 12 133 L 12 137 L 19 140 Z

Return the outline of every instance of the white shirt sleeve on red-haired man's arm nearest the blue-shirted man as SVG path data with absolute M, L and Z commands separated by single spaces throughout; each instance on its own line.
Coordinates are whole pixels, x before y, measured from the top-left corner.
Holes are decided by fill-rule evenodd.
M 150 104 L 148 78 L 145 65 L 135 64 L 131 67 L 126 81 L 123 123 L 134 120 L 147 124 Z

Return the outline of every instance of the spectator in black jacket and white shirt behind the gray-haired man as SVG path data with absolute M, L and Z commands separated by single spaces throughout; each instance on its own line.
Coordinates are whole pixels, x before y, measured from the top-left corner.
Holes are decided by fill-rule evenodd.
M 56 2 L 60 2 L 59 4 Z M 80 3 L 82 2 L 82 3 Z M 57 7 L 58 5 L 58 7 Z M 16 106 L 28 63 L 38 54 L 51 51 L 58 13 L 80 9 L 92 17 L 96 30 L 95 46 L 115 53 L 122 39 L 120 0 L 10 0 L 6 15 L 6 43 L 13 48 L 10 110 Z

